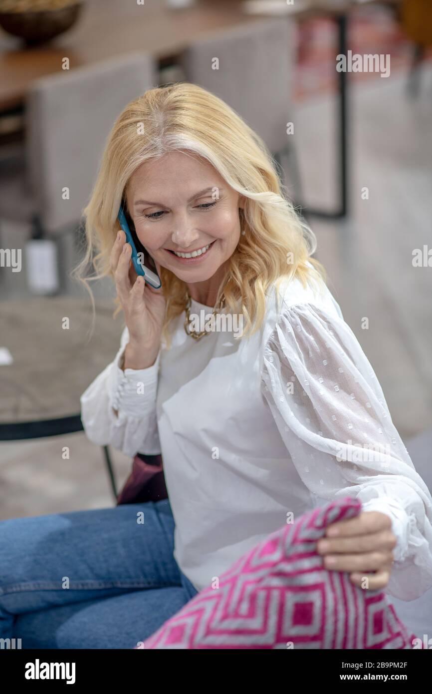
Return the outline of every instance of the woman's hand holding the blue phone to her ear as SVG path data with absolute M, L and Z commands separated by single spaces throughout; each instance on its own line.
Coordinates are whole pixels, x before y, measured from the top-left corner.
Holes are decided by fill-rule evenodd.
M 125 232 L 120 230 L 112 246 L 110 264 L 129 332 L 129 353 L 134 360 L 138 355 L 142 355 L 144 360 L 146 355 L 155 359 L 159 352 L 166 301 L 162 289 L 153 289 L 144 277 L 137 275 L 131 257 L 132 246 L 126 242 Z M 160 265 L 155 263 L 159 273 Z

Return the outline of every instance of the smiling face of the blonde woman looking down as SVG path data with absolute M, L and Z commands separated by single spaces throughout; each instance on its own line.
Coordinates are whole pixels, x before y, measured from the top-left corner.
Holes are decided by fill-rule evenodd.
M 184 282 L 214 276 L 239 243 L 243 196 L 198 155 L 169 152 L 141 164 L 126 197 L 141 244 Z M 205 253 L 189 260 L 171 252 L 191 253 L 208 244 Z

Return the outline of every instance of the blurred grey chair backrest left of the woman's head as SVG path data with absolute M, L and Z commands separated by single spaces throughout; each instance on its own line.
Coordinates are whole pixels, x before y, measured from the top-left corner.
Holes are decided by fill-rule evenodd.
M 80 220 L 115 119 L 156 85 L 153 58 L 137 52 L 33 83 L 26 103 L 28 183 L 47 235 Z

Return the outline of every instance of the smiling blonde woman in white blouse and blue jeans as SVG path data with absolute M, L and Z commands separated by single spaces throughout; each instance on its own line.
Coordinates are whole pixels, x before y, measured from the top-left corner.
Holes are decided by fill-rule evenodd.
M 137 278 L 120 205 L 159 290 Z M 85 216 L 76 276 L 90 260 L 111 275 L 126 321 L 81 398 L 85 432 L 162 453 L 169 500 L 6 521 L 20 559 L 5 634 L 132 648 L 288 517 L 343 496 L 363 511 L 318 543 L 325 566 L 422 595 L 431 495 L 261 139 L 196 85 L 149 90 L 114 124 Z M 201 311 L 207 330 L 191 322 Z

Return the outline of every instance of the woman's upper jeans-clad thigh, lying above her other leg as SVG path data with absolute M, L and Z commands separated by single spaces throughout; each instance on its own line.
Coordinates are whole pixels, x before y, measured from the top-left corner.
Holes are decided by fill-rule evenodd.
M 168 499 L 0 521 L 0 636 L 25 613 L 143 589 L 177 586 L 188 602 L 174 528 Z

